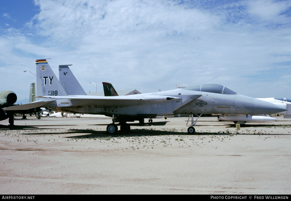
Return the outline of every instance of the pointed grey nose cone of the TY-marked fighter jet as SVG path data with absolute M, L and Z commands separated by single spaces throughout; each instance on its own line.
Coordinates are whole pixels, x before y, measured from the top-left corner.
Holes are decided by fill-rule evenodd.
M 281 106 L 253 98 L 253 114 L 274 114 L 283 111 L 286 111 L 286 109 Z

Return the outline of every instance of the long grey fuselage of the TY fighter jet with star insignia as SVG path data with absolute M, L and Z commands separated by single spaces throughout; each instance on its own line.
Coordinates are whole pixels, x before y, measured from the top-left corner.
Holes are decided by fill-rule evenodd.
M 161 103 L 135 104 L 128 106 L 108 106 L 95 104 L 94 100 L 56 99 L 48 105 L 57 112 L 161 116 L 171 114 L 269 114 L 281 112 L 282 108 L 275 104 L 240 94 L 218 94 L 194 90 L 175 89 L 163 92 L 129 95 L 126 97 L 146 98 L 147 96 L 171 96 L 180 98 Z M 197 99 L 197 95 L 201 95 Z M 70 96 L 69 96 L 70 97 Z M 89 96 L 87 96 L 89 97 Z M 110 101 L 110 100 L 108 100 Z

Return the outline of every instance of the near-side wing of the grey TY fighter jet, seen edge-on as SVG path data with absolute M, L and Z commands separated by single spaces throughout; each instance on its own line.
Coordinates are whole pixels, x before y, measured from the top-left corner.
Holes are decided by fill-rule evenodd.
M 72 96 L 38 96 L 38 98 L 51 98 L 51 99 L 69 99 L 69 100 L 82 100 L 95 102 L 107 101 L 109 106 L 117 103 L 118 105 L 132 105 L 132 104 L 152 104 L 152 103 L 162 103 L 169 102 L 173 100 L 180 100 L 181 98 L 164 96 L 164 95 L 145 95 L 142 97 L 132 97 L 132 96 L 83 96 L 83 95 L 72 95 Z M 103 104 L 102 104 L 103 105 Z

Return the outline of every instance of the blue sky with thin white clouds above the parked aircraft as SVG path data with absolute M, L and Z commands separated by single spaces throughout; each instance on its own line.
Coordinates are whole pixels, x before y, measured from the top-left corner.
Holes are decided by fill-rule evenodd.
M 289 0 L 2 0 L 0 92 L 28 98 L 36 59 L 86 92 L 221 84 L 291 98 Z

